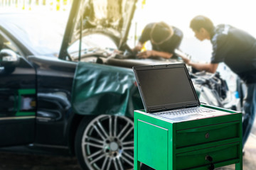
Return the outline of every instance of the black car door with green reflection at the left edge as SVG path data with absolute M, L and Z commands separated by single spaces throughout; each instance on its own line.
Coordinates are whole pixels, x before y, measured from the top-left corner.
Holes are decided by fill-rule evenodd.
M 33 142 L 36 72 L 0 30 L 0 147 Z

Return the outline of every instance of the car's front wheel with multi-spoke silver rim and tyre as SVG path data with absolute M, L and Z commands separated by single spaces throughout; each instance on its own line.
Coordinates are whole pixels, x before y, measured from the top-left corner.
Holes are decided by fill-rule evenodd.
M 133 169 L 134 123 L 119 115 L 85 116 L 75 136 L 75 153 L 82 169 Z

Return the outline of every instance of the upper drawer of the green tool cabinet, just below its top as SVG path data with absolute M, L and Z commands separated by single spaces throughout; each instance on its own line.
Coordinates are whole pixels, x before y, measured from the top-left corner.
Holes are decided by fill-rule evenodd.
M 239 122 L 221 123 L 176 131 L 176 148 L 239 137 Z

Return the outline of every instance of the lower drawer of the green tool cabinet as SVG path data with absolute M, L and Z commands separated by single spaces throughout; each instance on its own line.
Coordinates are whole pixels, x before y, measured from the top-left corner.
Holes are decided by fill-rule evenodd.
M 239 158 L 239 142 L 176 154 L 176 169 L 191 169 Z M 210 161 L 208 160 L 210 157 Z

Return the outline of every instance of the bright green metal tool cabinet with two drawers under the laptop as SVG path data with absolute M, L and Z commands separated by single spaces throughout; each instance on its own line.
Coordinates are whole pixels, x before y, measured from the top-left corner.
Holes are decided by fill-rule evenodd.
M 242 169 L 242 113 L 174 121 L 134 111 L 134 170 L 144 163 L 156 170 Z

